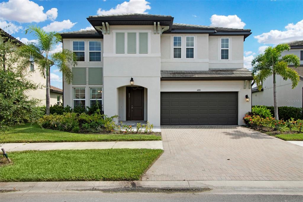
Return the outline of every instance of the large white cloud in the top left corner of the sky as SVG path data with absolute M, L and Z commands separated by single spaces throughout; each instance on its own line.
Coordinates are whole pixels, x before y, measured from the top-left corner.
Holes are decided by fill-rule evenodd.
M 56 12 L 55 12 L 56 9 Z M 57 17 L 57 8 L 52 8 L 46 13 L 43 6 L 29 0 L 13 1 L 0 3 L 1 19 L 17 22 L 42 22 L 46 19 Z

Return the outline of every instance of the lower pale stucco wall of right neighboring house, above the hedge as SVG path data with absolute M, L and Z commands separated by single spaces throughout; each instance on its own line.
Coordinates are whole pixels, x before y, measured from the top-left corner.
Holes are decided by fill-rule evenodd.
M 291 88 L 290 80 L 283 80 L 281 76 L 276 76 L 277 101 L 278 106 L 302 107 L 302 87 L 300 80 L 298 86 Z M 274 106 L 273 77 L 268 77 L 263 82 L 263 91 L 252 93 L 252 105 Z

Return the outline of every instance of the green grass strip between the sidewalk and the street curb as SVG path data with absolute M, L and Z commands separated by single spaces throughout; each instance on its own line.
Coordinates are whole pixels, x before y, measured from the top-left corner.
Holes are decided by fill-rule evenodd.
M 162 150 L 105 149 L 9 152 L 1 182 L 140 180 Z

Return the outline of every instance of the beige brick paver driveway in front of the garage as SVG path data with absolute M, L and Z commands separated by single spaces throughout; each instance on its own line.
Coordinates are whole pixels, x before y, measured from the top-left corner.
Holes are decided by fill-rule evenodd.
M 142 180 L 303 180 L 303 147 L 242 126 L 161 126 Z

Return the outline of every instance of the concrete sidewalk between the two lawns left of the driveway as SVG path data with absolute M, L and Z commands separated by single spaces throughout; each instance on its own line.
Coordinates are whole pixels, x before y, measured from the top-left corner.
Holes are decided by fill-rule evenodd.
M 162 141 L 125 142 L 55 142 L 55 143 L 5 143 L 6 151 L 25 150 L 84 150 L 84 149 L 162 149 Z

